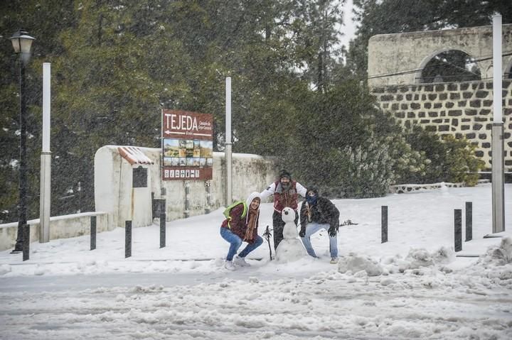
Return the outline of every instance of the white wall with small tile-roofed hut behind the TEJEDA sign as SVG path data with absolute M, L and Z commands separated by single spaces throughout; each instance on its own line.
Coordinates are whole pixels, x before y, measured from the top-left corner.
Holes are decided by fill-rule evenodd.
M 167 221 L 183 218 L 187 183 L 190 190 L 189 216 L 205 214 L 208 208 L 214 210 L 225 206 L 224 153 L 213 153 L 213 179 L 208 181 L 208 206 L 206 181 L 161 181 L 160 148 L 140 148 L 154 164 L 143 165 L 148 168 L 148 187 L 132 189 L 132 165 L 119 155 L 117 148 L 104 146 L 95 155 L 95 209 L 109 214 L 110 227 L 124 226 L 127 220 L 132 220 L 134 227 L 152 224 L 151 192 L 154 192 L 154 198 L 166 199 Z M 277 174 L 276 162 L 272 158 L 234 153 L 233 200 L 245 199 L 253 191 L 261 192 L 276 180 Z M 164 196 L 161 196 L 162 187 L 166 191 Z

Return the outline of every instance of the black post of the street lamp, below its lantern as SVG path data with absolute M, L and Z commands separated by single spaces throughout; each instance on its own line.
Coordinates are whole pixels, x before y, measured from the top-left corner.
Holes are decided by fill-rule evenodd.
M 23 59 L 23 58 L 22 58 Z M 23 251 L 23 227 L 27 221 L 27 159 L 26 159 L 26 99 L 25 63 L 20 60 L 20 168 L 18 200 L 18 234 L 13 253 Z

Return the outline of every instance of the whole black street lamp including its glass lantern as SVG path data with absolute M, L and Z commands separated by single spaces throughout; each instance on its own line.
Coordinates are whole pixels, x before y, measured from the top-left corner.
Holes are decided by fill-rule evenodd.
M 18 235 L 16 246 L 11 253 L 23 251 L 22 229 L 27 222 L 27 157 L 26 157 L 26 98 L 25 98 L 25 66 L 31 56 L 32 41 L 35 40 L 27 31 L 19 30 L 11 36 L 14 53 L 20 55 L 20 168 L 19 168 L 19 201 L 18 201 Z M 28 231 L 30 233 L 30 231 Z

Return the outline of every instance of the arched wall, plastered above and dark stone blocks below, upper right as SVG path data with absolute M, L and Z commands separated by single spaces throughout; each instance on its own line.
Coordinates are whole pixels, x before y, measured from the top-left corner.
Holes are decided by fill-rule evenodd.
M 492 26 L 374 35 L 368 43 L 368 87 L 403 126 L 465 137 L 491 168 L 493 124 Z M 504 165 L 512 170 L 512 24 L 502 26 Z M 422 83 L 433 57 L 459 50 L 472 58 L 481 80 Z

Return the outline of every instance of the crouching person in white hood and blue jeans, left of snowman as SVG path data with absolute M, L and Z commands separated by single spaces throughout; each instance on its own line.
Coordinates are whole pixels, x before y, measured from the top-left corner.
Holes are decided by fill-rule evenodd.
M 260 202 L 260 194 L 252 192 L 245 202 L 235 202 L 224 211 L 226 219 L 220 226 L 220 236 L 230 243 L 224 265 L 228 270 L 235 270 L 235 265 L 250 265 L 245 256 L 263 243 L 263 238 L 257 234 Z M 247 242 L 247 246 L 235 256 L 242 242 Z

